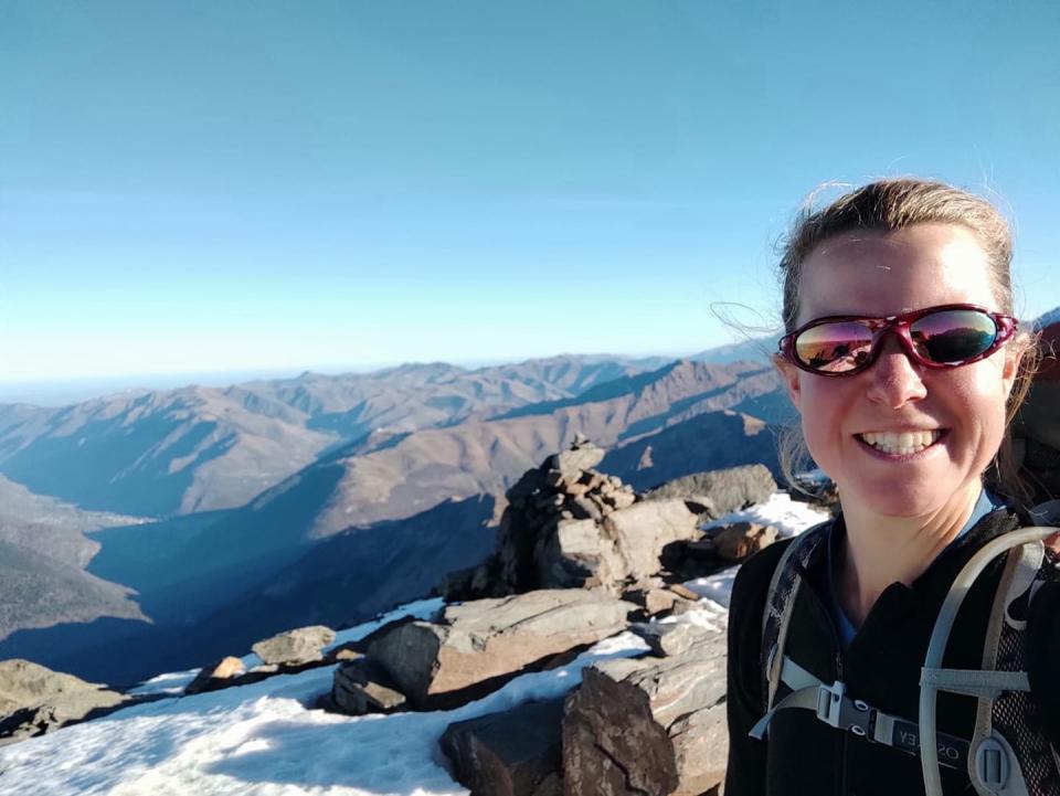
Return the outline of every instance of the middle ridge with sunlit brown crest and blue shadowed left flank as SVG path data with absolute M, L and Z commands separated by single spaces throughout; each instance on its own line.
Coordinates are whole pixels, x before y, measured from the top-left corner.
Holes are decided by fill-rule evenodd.
M 502 501 L 515 479 L 565 448 L 577 433 L 610 447 L 630 429 L 645 436 L 777 389 L 772 371 L 695 362 L 667 365 L 650 379 L 621 381 L 633 386 L 614 399 L 547 415 L 474 416 L 410 433 L 371 453 L 329 458 L 248 505 L 201 522 L 187 518 L 99 532 L 94 535 L 104 549 L 89 570 L 136 588 L 156 619 L 186 620 L 234 599 L 336 533 L 356 534 L 479 495 Z M 706 452 L 696 460 L 711 468 Z

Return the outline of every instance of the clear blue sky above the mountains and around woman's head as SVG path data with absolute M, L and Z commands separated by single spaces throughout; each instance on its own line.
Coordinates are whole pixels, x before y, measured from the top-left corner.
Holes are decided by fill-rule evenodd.
M 3 0 L 0 382 L 693 352 L 826 180 L 1060 304 L 1060 4 Z M 748 314 L 741 318 L 750 317 Z

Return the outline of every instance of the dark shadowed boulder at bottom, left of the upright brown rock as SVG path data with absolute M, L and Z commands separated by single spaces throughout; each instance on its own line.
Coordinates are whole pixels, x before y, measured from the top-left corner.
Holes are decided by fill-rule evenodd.
M 561 796 L 563 699 L 449 724 L 439 745 L 483 796 Z

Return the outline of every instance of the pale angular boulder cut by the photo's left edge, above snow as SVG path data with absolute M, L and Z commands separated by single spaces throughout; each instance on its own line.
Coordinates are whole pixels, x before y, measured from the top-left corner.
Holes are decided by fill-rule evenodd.
M 108 712 L 127 697 L 29 660 L 0 661 L 0 744 Z

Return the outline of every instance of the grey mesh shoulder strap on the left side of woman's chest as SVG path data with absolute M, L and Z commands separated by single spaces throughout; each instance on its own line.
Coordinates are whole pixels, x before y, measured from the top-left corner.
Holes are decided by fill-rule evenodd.
M 787 626 L 792 618 L 795 597 L 802 585 L 802 571 L 805 570 L 814 551 L 828 537 L 831 520 L 826 520 L 803 532 L 787 545 L 773 571 L 770 591 L 762 615 L 762 696 L 764 712 L 768 712 L 776 701 L 776 690 L 781 684 L 781 668 L 784 664 L 784 643 Z

